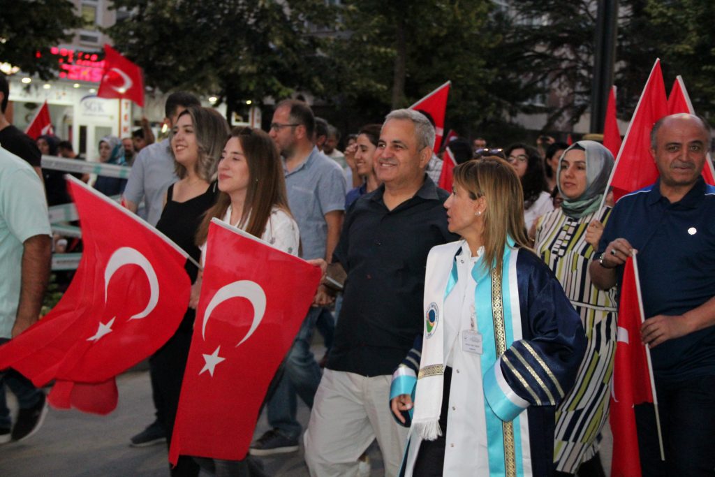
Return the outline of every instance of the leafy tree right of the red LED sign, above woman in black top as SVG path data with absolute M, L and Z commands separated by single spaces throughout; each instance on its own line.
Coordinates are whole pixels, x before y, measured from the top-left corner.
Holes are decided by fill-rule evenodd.
M 245 100 L 325 89 L 313 72 L 327 58 L 312 33 L 334 9 L 322 0 L 114 0 L 121 7 L 132 15 L 107 32 L 150 87 L 216 95 L 227 117 Z

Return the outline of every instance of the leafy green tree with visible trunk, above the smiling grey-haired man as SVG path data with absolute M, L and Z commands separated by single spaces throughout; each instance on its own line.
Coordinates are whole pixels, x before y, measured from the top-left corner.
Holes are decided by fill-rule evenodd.
M 495 61 L 503 36 L 490 28 L 492 1 L 341 3 L 341 31 L 327 50 L 335 60 L 329 84 L 349 117 L 380 121 L 450 79 L 448 127 L 469 134 L 521 97 L 505 87 L 511 83 Z

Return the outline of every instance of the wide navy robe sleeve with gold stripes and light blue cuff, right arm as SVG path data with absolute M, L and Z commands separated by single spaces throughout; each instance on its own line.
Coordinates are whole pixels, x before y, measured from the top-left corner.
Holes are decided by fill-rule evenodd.
M 536 266 L 518 281 L 520 290 L 528 290 L 526 300 L 520 297 L 528 338 L 512 343 L 484 375 L 486 399 L 503 421 L 511 421 L 530 405 L 560 403 L 586 351 L 581 318 L 551 270 Z

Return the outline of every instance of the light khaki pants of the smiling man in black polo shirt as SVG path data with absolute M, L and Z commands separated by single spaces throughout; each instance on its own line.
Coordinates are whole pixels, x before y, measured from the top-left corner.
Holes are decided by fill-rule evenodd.
M 325 370 L 303 436 L 311 476 L 358 476 L 358 458 L 373 439 L 383 453 L 385 475 L 398 474 L 408 429 L 390 412 L 391 380 Z

